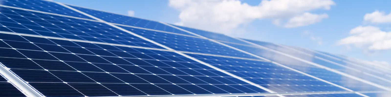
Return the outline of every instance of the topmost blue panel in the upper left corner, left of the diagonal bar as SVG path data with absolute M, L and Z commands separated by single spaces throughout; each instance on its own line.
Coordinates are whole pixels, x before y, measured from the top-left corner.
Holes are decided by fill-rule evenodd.
M 84 16 L 83 14 L 80 14 L 79 12 L 75 12 L 61 5 L 58 5 L 57 3 L 48 2 L 44 0 L 0 0 L 0 4 L 11 6 L 11 7 L 23 8 L 23 9 L 37 10 L 37 11 L 61 14 L 66 16 L 92 19 L 88 16 Z

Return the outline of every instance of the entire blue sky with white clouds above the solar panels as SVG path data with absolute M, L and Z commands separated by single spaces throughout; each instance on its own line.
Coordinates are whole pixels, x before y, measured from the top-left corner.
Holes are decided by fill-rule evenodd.
M 55 1 L 391 63 L 391 0 Z

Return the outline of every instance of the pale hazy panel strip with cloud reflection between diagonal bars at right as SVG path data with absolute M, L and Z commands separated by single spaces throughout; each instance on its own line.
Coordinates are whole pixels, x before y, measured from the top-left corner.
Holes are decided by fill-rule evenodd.
M 337 85 L 346 87 L 351 90 L 355 91 L 384 91 L 380 88 L 373 87 L 371 85 L 368 85 L 366 83 L 362 83 L 361 81 L 353 80 L 351 78 L 341 76 L 340 74 L 333 73 L 331 71 L 327 71 L 325 69 L 317 68 L 315 66 L 312 66 L 310 64 L 298 61 L 296 59 L 292 59 L 291 57 L 287 57 L 285 55 L 277 54 L 265 49 L 260 49 L 258 47 L 248 47 L 243 45 L 235 45 L 235 44 L 229 44 L 233 47 L 236 47 L 238 49 L 253 53 L 255 55 L 258 55 L 260 57 L 264 57 L 266 59 L 269 59 L 274 62 L 278 62 L 280 64 L 283 64 L 285 66 L 297 69 L 299 71 L 302 71 L 304 73 L 316 76 L 318 78 L 321 78 L 326 81 L 330 81 L 332 83 L 335 83 Z M 339 71 L 344 71 L 345 69 L 337 69 Z M 346 72 L 348 73 L 348 72 Z

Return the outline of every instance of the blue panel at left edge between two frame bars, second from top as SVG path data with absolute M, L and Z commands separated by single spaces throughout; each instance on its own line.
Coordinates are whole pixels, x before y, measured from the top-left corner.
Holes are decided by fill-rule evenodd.
M 0 7 L 0 31 L 160 48 L 107 24 Z

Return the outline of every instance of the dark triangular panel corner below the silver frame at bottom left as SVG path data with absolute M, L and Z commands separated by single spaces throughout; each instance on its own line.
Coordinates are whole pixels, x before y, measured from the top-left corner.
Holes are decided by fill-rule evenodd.
M 2 68 L 2 67 L 0 67 Z M 0 74 L 0 96 L 1 97 L 26 97 L 18 88 L 14 87 Z

